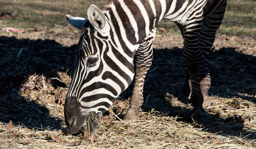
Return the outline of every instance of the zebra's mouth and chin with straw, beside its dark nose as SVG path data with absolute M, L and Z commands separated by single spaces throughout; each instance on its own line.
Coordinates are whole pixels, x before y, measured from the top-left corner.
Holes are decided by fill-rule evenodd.
M 97 126 L 102 121 L 102 114 L 101 113 L 90 113 L 87 118 L 84 126 L 86 127 L 86 132 L 92 134 Z

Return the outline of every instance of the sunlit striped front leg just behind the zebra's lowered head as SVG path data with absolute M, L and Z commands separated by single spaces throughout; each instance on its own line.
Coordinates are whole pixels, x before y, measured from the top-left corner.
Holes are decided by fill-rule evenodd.
M 153 41 L 155 37 L 154 28 L 150 35 L 148 35 L 140 44 L 135 55 L 135 83 L 133 94 L 130 100 L 130 107 L 124 115 L 124 120 L 133 122 L 139 120 L 138 109 L 143 104 L 143 85 L 146 73 L 152 64 L 153 60 Z

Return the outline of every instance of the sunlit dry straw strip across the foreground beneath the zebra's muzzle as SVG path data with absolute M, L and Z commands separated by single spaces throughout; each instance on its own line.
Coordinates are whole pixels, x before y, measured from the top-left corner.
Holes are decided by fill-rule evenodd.
M 223 99 L 222 99 L 223 100 Z M 230 99 L 229 101 L 231 101 Z M 217 100 L 216 100 L 217 101 Z M 226 106 L 219 101 L 222 106 Z M 122 103 L 119 103 L 119 105 Z M 127 104 L 127 101 L 123 103 Z M 118 105 L 116 105 L 118 106 Z M 210 108 L 215 109 L 215 106 Z M 113 109 L 114 107 L 112 107 Z M 216 108 L 215 110 L 219 110 Z M 250 111 L 248 111 L 250 110 Z M 111 110 L 112 111 L 112 110 Z M 229 110 L 230 111 L 230 110 Z M 250 113 L 249 113 L 250 112 Z M 112 113 L 112 112 L 111 112 Z M 255 107 L 247 110 L 232 110 L 226 113 L 236 113 L 255 117 Z M 154 109 L 148 112 L 140 111 L 141 120 L 133 125 L 118 120 L 115 116 L 105 116 L 102 124 L 94 133 L 88 137 L 66 136 L 61 131 L 38 129 L 27 129 L 22 125 L 13 126 L 8 129 L 8 124 L 1 123 L 1 142 L 3 148 L 7 147 L 31 147 L 31 148 L 253 148 L 255 140 L 255 119 L 244 123 L 246 127 L 241 131 L 250 132 L 247 136 L 236 136 L 225 134 L 226 130 L 237 128 L 241 125 L 226 125 L 216 121 L 205 128 L 199 128 L 195 123 L 189 124 L 177 121 L 178 117 L 166 116 Z M 210 129 L 221 130 L 211 133 Z M 232 132 L 232 131 L 231 131 Z M 253 134 L 254 132 L 254 134 Z

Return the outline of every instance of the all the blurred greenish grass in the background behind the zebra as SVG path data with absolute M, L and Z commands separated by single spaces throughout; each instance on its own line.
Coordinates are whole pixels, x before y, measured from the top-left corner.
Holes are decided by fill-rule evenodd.
M 11 13 L 13 18 L 1 19 L 0 28 L 15 27 L 27 29 L 44 27 L 52 29 L 55 24 L 65 26 L 65 14 L 87 16 L 91 4 L 102 6 L 105 1 L 3 1 L 0 0 L 0 12 Z M 229 0 L 226 13 L 218 34 L 256 36 L 256 2 L 254 0 Z M 175 23 L 163 20 L 159 28 L 165 28 L 167 34 L 180 34 Z

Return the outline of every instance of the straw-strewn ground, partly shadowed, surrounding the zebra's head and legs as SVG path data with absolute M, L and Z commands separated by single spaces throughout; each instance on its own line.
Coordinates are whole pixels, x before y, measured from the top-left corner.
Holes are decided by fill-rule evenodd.
M 190 101 L 177 98 L 185 79 L 182 37 L 159 28 L 144 85 L 141 120 L 133 124 L 122 121 L 131 85 L 93 135 L 82 131 L 68 135 L 63 105 L 79 31 L 67 24 L 54 24 L 7 33 L 8 19 L 18 16 L 5 12 L 0 17 L 4 29 L 0 32 L 0 148 L 256 147 L 254 34 L 226 35 L 222 29 L 217 34 L 209 56 L 212 100 L 206 109 L 207 125 L 191 120 Z

